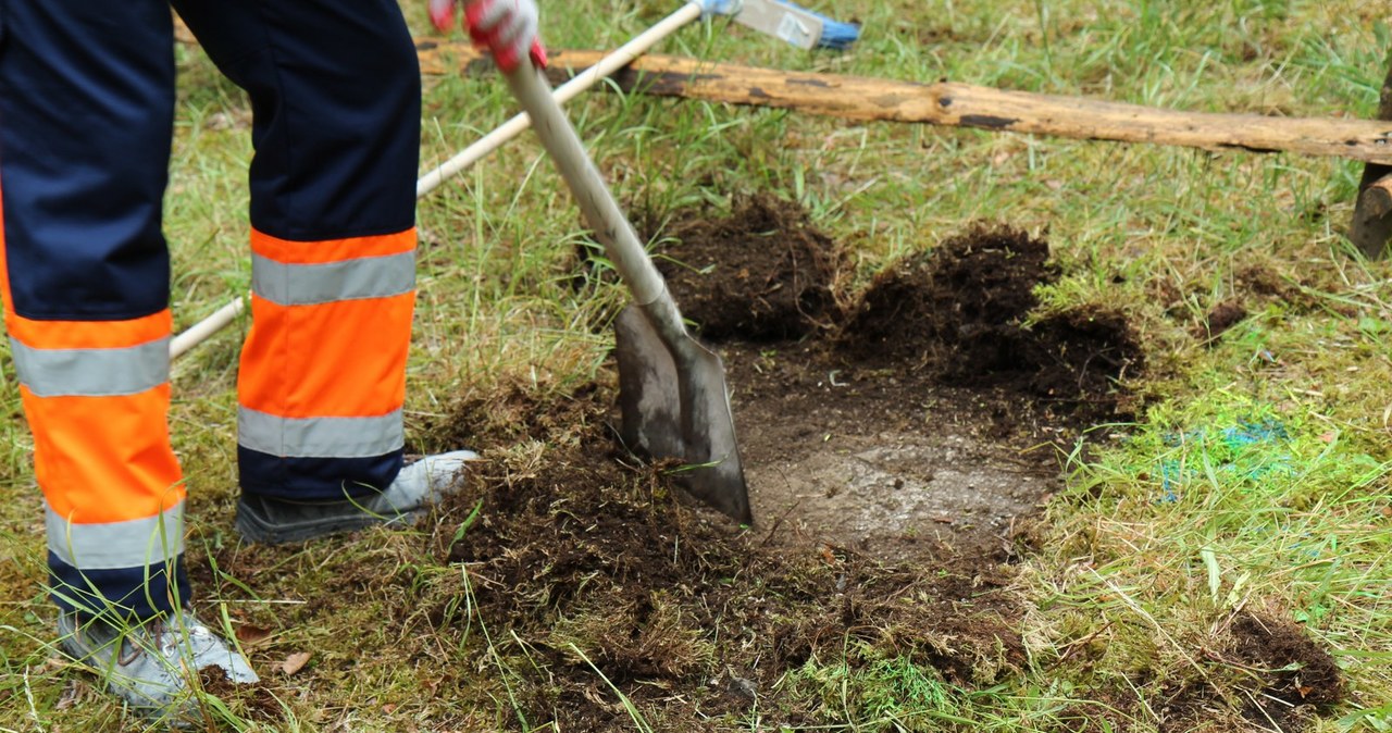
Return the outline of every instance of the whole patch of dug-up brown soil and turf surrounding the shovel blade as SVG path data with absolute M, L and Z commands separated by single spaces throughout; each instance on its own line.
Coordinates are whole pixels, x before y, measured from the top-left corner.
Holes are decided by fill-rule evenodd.
M 516 707 L 500 722 L 515 729 L 633 730 L 615 688 L 654 730 L 844 722 L 863 701 L 788 676 L 842 662 L 966 688 L 1018 677 L 1030 609 L 1012 563 L 1058 487 L 1054 445 L 1132 409 L 1125 385 L 1144 363 L 1125 316 L 1080 307 L 1027 324 L 1034 288 L 1059 273 L 1047 242 L 1006 227 L 967 228 L 860 287 L 835 242 L 773 198 L 738 199 L 728 217 L 679 213 L 667 234 L 661 268 L 725 360 L 754 524 L 692 505 L 672 463 L 621 445 L 614 380 L 472 394 L 415 446 L 486 458 L 429 540 L 469 586 L 388 620 L 429 638 L 489 629 Z M 253 574 L 258 558 L 219 562 Z M 374 577 L 362 593 L 391 593 L 387 576 L 418 594 L 409 573 L 347 573 Z M 285 623 L 329 612 L 299 606 Z M 1267 672 L 1224 688 L 1172 682 L 1164 730 L 1233 714 L 1233 688 L 1289 702 L 1233 714 L 1279 715 L 1286 730 L 1343 694 L 1295 625 L 1235 618 L 1214 648 Z M 486 694 L 470 684 L 445 675 L 433 694 Z M 1068 727 L 1125 730 L 1134 705 L 1122 690 L 1079 705 Z

